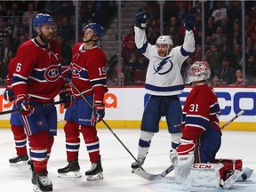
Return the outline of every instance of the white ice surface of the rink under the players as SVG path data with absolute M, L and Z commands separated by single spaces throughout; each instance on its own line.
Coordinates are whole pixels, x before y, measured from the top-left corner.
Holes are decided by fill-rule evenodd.
M 242 158 L 244 166 L 254 169 L 250 180 L 236 182 L 228 190 L 217 188 L 192 188 L 178 185 L 171 172 L 163 180 L 148 181 L 131 172 L 134 161 L 114 134 L 108 129 L 100 129 L 100 154 L 104 169 L 104 180 L 87 181 L 84 172 L 91 167 L 88 154 L 81 137 L 79 163 L 82 178 L 60 179 L 57 169 L 66 166 L 65 137 L 62 129 L 52 148 L 52 155 L 48 164 L 49 178 L 53 183 L 54 192 L 216 192 L 216 191 L 256 191 L 256 132 L 223 132 L 222 146 L 217 157 Z M 122 140 L 132 155 L 137 157 L 140 130 L 113 129 L 116 136 Z M 170 165 L 169 160 L 170 135 L 166 130 L 156 133 L 152 140 L 144 169 L 151 173 L 160 173 Z M 12 132 L 0 129 L 0 191 L 1 192 L 32 192 L 31 171 L 28 166 L 11 167 L 8 159 L 15 156 Z

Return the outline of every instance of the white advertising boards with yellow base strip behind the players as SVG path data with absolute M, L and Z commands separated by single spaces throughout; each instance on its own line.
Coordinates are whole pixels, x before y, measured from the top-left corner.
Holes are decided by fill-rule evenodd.
M 184 106 L 186 97 L 191 87 L 186 87 L 180 94 L 180 104 Z M 256 131 L 256 88 L 220 87 L 214 88 L 220 103 L 220 124 L 225 124 L 233 116 L 244 109 L 243 116 L 239 116 L 235 122 L 228 125 L 228 130 Z M 0 88 L 0 112 L 11 110 L 12 103 L 4 100 L 4 88 Z M 140 120 L 143 108 L 149 95 L 142 87 L 133 88 L 108 88 L 104 102 L 106 107 L 105 122 L 111 128 L 140 128 Z M 56 101 L 59 97 L 56 97 Z M 57 105 L 58 119 L 63 120 L 65 109 Z M 10 127 L 11 114 L 0 116 L 0 128 Z M 59 124 L 60 127 L 63 125 Z M 162 118 L 159 126 L 166 128 L 165 118 Z M 98 124 L 98 127 L 106 127 L 106 124 Z

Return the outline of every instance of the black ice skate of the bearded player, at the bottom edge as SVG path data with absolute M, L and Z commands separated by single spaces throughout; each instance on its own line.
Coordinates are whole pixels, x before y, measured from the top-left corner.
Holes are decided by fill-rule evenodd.
M 52 181 L 48 178 L 48 172 L 39 172 L 36 174 L 36 183 L 34 184 L 33 190 L 35 192 L 52 192 Z M 32 173 L 32 182 L 34 175 Z

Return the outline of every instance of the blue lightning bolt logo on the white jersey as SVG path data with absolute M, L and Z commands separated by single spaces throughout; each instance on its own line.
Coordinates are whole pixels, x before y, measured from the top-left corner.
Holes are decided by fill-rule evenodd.
M 157 73 L 159 75 L 164 75 L 169 73 L 172 70 L 173 63 L 172 63 L 172 60 L 169 60 L 170 58 L 171 57 L 164 58 L 164 60 L 161 60 L 161 62 L 156 60 L 153 63 L 155 74 Z

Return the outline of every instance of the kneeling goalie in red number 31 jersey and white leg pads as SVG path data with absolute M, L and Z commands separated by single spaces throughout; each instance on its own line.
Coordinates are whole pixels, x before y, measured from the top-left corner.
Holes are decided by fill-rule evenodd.
M 242 160 L 215 158 L 221 143 L 220 106 L 217 95 L 206 83 L 210 76 L 206 62 L 196 61 L 188 68 L 186 84 L 192 83 L 193 89 L 183 108 L 182 138 L 172 163 L 176 165 L 177 182 L 230 188 L 243 174 Z M 249 172 L 244 178 L 251 176 Z

